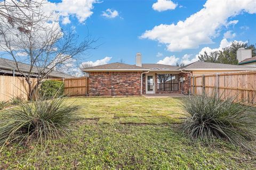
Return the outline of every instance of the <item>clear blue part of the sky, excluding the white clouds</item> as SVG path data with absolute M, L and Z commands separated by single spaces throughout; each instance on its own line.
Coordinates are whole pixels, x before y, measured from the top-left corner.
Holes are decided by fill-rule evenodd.
M 216 32 L 213 33 L 214 35 L 211 35 L 211 43 L 202 43 L 198 47 L 170 51 L 166 49 L 165 43 L 159 43 L 157 40 L 148 38 L 140 38 L 140 36 L 146 30 L 152 30 L 156 25 L 177 24 L 179 21 L 185 21 L 190 15 L 202 10 L 206 1 L 172 1 L 174 4 L 177 4 L 177 7 L 173 10 L 161 12 L 153 9 L 152 6 L 156 2 L 102 1 L 101 3 L 93 4 L 94 8 L 91 10 L 93 14 L 84 23 L 79 23 L 76 17 L 70 17 L 71 23 L 66 24 L 64 27 L 75 26 L 76 32 L 81 36 L 86 33 L 86 27 L 88 27 L 93 37 L 100 38 L 97 42 L 101 44 L 99 48 L 92 50 L 90 56 L 84 58 L 85 61 L 92 62 L 102 60 L 102 58 L 108 56 L 111 57 L 109 62 L 118 62 L 122 58 L 125 63 L 134 64 L 134 56 L 137 52 L 142 53 L 143 63 L 157 63 L 166 56 L 175 56 L 175 60 L 180 58 L 177 62 L 182 62 L 182 57 L 186 54 L 190 56 L 188 58 L 190 61 L 204 47 L 211 49 L 219 48 L 221 40 L 227 31 L 231 34 L 227 38 L 229 42 L 250 39 L 250 43 L 256 43 L 256 14 L 252 12 L 252 14 L 249 14 L 241 9 L 239 14 L 233 16 L 233 13 L 230 12 L 230 16 L 227 17 L 227 22 L 238 22 L 228 26 L 220 25 L 215 30 Z M 218 3 L 217 1 L 215 2 Z M 232 4 L 233 1 L 229 1 L 229 3 Z M 112 11 L 116 10 L 118 16 L 115 18 L 102 16 L 103 11 L 106 11 L 108 8 Z M 189 31 L 189 27 L 187 29 Z M 207 30 L 209 28 L 205 27 L 202 31 L 204 29 Z

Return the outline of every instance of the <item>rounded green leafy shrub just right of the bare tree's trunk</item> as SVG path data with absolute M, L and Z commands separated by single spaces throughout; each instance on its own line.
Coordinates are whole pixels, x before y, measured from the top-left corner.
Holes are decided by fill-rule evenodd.
M 64 83 L 57 80 L 45 80 L 42 82 L 39 89 L 39 94 L 44 95 L 44 98 L 52 98 L 54 95 L 58 94 L 62 96 L 64 93 Z

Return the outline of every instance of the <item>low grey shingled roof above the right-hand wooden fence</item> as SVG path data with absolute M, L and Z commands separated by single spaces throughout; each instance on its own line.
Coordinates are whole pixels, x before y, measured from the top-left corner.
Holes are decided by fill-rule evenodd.
M 181 70 L 254 70 L 256 67 L 197 61 L 180 67 Z

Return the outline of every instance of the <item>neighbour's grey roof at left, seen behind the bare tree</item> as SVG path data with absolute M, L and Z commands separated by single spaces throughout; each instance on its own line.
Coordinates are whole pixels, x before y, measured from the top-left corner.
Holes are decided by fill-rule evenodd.
M 25 64 L 25 63 L 21 63 L 18 62 L 18 67 L 22 72 L 28 72 L 30 69 L 30 65 L 29 64 Z M 7 74 L 12 74 L 12 70 L 15 69 L 17 70 L 17 66 L 15 65 L 15 62 L 12 60 L 8 60 L 6 58 L 0 58 L 0 73 L 7 73 Z M 46 69 L 49 70 L 49 69 Z M 34 75 L 37 74 L 37 68 L 34 67 L 32 72 L 34 73 Z M 22 75 L 19 72 L 15 72 L 16 75 Z M 55 78 L 74 78 L 73 76 L 66 74 L 66 73 L 62 73 L 59 71 L 52 71 L 49 76 L 51 77 L 55 77 Z

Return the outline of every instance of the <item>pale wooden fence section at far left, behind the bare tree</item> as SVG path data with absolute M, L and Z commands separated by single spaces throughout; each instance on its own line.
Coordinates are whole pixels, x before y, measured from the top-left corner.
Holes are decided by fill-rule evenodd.
M 30 80 L 36 83 L 35 78 Z M 28 99 L 28 83 L 23 77 L 0 75 L 0 101 L 7 101 L 13 97 Z

